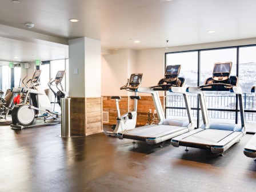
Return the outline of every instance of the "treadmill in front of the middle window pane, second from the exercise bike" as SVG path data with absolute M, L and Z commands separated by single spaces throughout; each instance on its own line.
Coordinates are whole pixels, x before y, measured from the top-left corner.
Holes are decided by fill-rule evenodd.
M 242 90 L 238 87 L 238 77 L 230 76 L 231 66 L 232 62 L 215 63 L 213 77 L 207 78 L 204 85 L 187 87 L 187 92 L 198 94 L 203 124 L 198 129 L 171 139 L 171 145 L 210 149 L 212 153 L 223 155 L 224 151 L 246 134 Z M 229 91 L 237 94 L 241 124 L 209 122 L 203 91 Z

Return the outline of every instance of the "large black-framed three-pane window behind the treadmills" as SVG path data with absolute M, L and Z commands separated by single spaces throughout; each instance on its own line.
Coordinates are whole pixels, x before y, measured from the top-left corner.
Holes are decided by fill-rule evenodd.
M 181 73 L 184 73 L 185 78 L 189 79 L 186 81 L 187 86 L 197 86 L 203 85 L 207 77 L 212 76 L 212 70 L 215 62 L 229 62 L 233 63 L 231 69 L 231 75 L 238 75 L 239 86 L 243 90 L 243 105 L 245 107 L 245 120 L 247 122 L 246 126 L 249 127 L 249 131 L 256 131 L 256 98 L 255 94 L 250 93 L 251 87 L 256 86 L 256 46 L 237 46 L 237 47 L 226 47 L 219 49 L 209 49 L 209 50 L 193 50 L 184 51 L 178 53 L 166 53 L 166 65 L 175 65 L 179 62 L 181 67 Z M 194 57 L 190 57 L 194 55 Z M 190 70 L 187 66 L 186 59 L 190 60 L 191 64 L 189 67 L 193 68 Z M 184 64 L 183 64 L 183 63 Z M 238 65 L 237 65 L 238 64 Z M 193 77 L 191 79 L 194 71 L 198 72 L 199 79 Z M 185 72 L 183 72 L 185 70 Z M 185 74 L 186 73 L 186 74 Z M 181 75 L 180 75 L 181 76 Z M 217 93 L 217 92 L 206 92 L 206 105 L 208 107 L 210 119 L 214 121 L 229 121 L 229 122 L 240 122 L 239 106 L 235 105 L 237 98 L 235 94 L 231 93 Z M 193 111 L 198 111 L 197 97 L 193 98 L 190 95 L 191 107 Z M 166 118 L 172 118 L 172 116 L 184 116 L 182 99 L 177 99 L 177 95 L 167 94 L 166 99 Z M 172 115 L 170 115 L 172 114 Z M 195 117 L 198 113 L 193 113 Z M 199 113 L 201 114 L 201 112 Z M 177 118 L 176 117 L 176 118 Z M 201 117 L 198 117 L 198 124 Z M 253 130 L 254 129 L 254 130 Z

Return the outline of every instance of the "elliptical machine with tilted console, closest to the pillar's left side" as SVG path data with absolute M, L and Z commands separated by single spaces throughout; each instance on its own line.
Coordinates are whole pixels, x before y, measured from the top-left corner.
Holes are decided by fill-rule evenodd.
M 48 86 L 49 86 L 50 90 L 53 91 L 53 94 L 54 94 L 53 111 L 55 110 L 56 98 L 57 98 L 57 103 L 59 104 L 59 106 L 61 106 L 61 98 L 65 98 L 65 95 L 66 95 L 66 93 L 63 89 L 63 85 L 61 84 L 61 81 L 62 81 L 64 75 L 65 75 L 65 70 L 58 71 L 55 79 L 52 80 L 53 78 L 51 78 L 50 81 L 48 82 Z M 51 86 L 56 86 L 58 91 L 55 91 Z M 61 86 L 61 89 L 59 89 L 59 86 Z

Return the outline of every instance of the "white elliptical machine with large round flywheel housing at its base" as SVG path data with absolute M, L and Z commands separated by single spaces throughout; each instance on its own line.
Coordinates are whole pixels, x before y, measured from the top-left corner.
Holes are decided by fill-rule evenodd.
M 60 114 L 51 111 L 50 100 L 39 82 L 40 75 L 41 70 L 37 70 L 32 79 L 29 79 L 26 83 L 22 81 L 26 86 L 21 91 L 24 95 L 23 103 L 13 107 L 11 113 L 12 129 L 55 125 L 61 122 Z

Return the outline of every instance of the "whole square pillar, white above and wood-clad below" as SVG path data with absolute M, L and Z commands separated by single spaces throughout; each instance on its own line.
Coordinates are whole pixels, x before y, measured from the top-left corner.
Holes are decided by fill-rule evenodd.
M 86 37 L 69 41 L 71 135 L 102 132 L 101 42 Z

